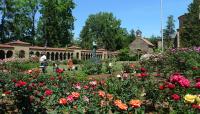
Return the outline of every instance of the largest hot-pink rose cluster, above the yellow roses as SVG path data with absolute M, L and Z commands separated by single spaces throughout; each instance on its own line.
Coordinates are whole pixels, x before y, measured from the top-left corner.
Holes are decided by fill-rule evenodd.
M 190 87 L 190 81 L 180 73 L 174 73 L 170 77 L 170 82 L 177 82 L 181 87 Z

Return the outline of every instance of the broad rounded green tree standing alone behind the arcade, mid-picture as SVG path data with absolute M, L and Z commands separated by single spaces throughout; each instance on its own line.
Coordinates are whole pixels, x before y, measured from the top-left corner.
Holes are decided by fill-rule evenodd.
M 121 21 L 112 13 L 100 12 L 90 15 L 80 33 L 81 47 L 91 49 L 92 42 L 96 41 L 99 48 L 121 49 L 128 32 L 120 26 Z

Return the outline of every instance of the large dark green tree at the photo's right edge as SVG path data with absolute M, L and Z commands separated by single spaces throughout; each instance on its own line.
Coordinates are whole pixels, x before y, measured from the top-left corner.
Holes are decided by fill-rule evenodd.
M 185 14 L 180 28 L 181 45 L 186 47 L 200 46 L 200 0 L 193 0 Z

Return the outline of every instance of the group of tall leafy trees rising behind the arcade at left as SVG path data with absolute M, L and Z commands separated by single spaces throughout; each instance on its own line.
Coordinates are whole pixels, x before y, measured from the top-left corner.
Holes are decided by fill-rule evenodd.
M 63 47 L 73 38 L 73 0 L 1 0 L 0 41 Z M 36 13 L 40 13 L 36 21 Z

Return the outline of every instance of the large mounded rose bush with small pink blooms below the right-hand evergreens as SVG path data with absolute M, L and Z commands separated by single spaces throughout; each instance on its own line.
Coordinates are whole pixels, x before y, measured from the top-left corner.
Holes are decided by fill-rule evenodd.
M 153 72 L 164 73 L 169 76 L 173 72 L 181 72 L 188 77 L 198 77 L 200 72 L 200 54 L 193 49 L 173 49 L 165 53 L 152 55 L 149 59 L 141 61 L 143 66 Z

